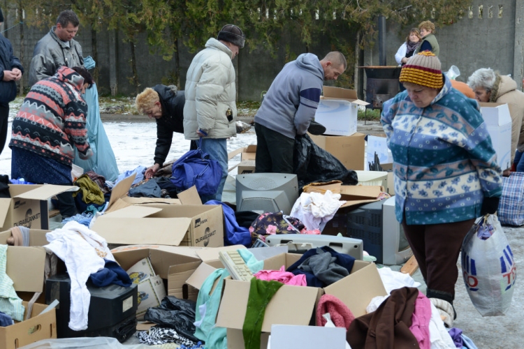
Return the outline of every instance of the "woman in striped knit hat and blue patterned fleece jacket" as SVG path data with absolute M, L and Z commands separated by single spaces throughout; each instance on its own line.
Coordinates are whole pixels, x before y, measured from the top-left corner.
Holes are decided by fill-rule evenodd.
M 497 211 L 501 170 L 478 104 L 451 88 L 435 54 L 415 54 L 399 80 L 406 91 L 381 114 L 393 154 L 395 213 L 426 295 L 452 327 L 460 246 L 474 218 Z

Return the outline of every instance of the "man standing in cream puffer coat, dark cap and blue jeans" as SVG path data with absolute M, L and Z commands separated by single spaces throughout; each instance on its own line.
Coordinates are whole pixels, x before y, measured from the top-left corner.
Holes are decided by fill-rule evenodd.
M 186 77 L 184 136 L 187 140 L 202 138 L 202 150 L 219 161 L 221 181 L 215 195 L 201 198 L 222 200 L 228 175 L 227 139 L 237 134 L 235 68 L 232 60 L 244 47 L 242 30 L 227 24 L 217 38 L 210 38 L 205 49 L 191 61 Z

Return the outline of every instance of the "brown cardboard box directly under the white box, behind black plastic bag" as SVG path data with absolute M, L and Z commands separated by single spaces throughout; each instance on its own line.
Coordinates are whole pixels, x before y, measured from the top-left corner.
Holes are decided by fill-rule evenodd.
M 316 145 L 335 156 L 348 170 L 364 170 L 363 133 L 357 132 L 349 136 L 309 135 Z

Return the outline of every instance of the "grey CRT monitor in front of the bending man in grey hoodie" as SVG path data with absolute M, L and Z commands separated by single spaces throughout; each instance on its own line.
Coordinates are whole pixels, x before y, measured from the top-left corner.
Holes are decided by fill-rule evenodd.
M 289 215 L 298 199 L 298 179 L 289 173 L 237 174 L 236 198 L 237 211 Z

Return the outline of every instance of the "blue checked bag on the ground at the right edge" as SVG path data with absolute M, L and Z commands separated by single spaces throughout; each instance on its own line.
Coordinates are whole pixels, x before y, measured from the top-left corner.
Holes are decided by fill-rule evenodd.
M 497 216 L 504 225 L 524 224 L 524 172 L 511 172 L 509 177 L 502 177 Z

